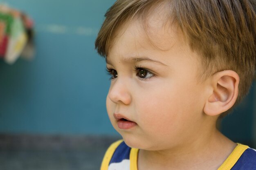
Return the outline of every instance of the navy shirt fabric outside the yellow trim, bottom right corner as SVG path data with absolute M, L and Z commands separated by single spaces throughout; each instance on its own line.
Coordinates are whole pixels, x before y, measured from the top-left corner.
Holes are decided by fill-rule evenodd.
M 239 154 L 234 153 L 234 154 Z M 256 150 L 247 148 L 231 170 L 256 170 Z

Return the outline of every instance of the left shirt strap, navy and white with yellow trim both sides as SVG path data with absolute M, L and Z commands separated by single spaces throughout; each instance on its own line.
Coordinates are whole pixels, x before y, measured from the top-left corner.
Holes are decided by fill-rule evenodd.
M 138 149 L 130 148 L 123 140 L 116 141 L 108 148 L 101 170 L 130 170 L 133 166 L 137 169 L 137 153 Z

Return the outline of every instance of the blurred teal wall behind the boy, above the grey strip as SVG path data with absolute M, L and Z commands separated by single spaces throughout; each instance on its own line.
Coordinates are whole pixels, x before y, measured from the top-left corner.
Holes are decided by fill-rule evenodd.
M 105 107 L 109 80 L 94 50 L 104 13 L 115 0 L 5 0 L 35 21 L 36 56 L 8 65 L 0 60 L 0 132 L 111 134 Z M 255 84 L 222 131 L 252 141 Z

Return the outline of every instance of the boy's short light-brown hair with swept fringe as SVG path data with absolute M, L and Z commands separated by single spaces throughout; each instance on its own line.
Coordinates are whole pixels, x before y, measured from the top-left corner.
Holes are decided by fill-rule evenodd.
M 105 14 L 95 41 L 99 55 L 108 56 L 121 25 L 135 16 L 145 21 L 161 5 L 191 49 L 202 56 L 202 75 L 223 70 L 238 73 L 239 102 L 248 93 L 256 70 L 255 0 L 117 0 Z

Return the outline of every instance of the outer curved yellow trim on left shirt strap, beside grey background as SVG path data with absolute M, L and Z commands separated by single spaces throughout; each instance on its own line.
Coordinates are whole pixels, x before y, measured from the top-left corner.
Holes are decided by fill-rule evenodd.
M 112 158 L 117 146 L 119 146 L 119 144 L 121 144 L 122 141 L 123 140 L 119 140 L 119 141 L 116 141 L 115 143 L 113 143 L 112 145 L 110 145 L 110 147 L 106 151 L 106 154 L 101 163 L 101 170 L 108 170 L 108 166 L 111 161 L 111 158 Z

